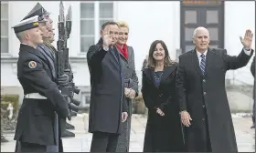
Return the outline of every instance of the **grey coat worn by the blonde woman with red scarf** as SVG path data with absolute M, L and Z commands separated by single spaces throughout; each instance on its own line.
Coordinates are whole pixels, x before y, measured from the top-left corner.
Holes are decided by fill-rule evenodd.
M 126 59 L 119 51 L 120 61 L 123 65 L 124 87 L 133 88 L 138 95 L 138 77 L 135 72 L 133 47 L 127 46 L 128 58 Z M 130 84 L 130 85 L 129 85 Z M 124 97 L 123 100 L 128 106 L 128 118 L 122 123 L 122 133 L 118 138 L 116 152 L 129 152 L 130 133 L 131 133 L 131 116 L 132 116 L 132 99 Z

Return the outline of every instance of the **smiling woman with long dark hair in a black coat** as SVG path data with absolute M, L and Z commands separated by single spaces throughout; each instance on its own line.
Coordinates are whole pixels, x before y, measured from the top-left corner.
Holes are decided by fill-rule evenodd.
M 183 151 L 184 142 L 176 100 L 177 64 L 162 40 L 150 46 L 143 70 L 142 94 L 148 108 L 144 152 Z

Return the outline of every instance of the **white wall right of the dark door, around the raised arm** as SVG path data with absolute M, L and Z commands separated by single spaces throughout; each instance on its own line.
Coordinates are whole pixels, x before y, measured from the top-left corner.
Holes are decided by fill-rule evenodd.
M 251 29 L 254 34 L 252 48 L 255 49 L 255 2 L 225 2 L 225 48 L 229 55 L 239 55 L 242 48 L 240 36 L 244 36 L 246 29 Z M 250 66 L 251 61 L 239 70 L 229 71 L 227 77 L 234 76 L 235 79 L 252 85 Z

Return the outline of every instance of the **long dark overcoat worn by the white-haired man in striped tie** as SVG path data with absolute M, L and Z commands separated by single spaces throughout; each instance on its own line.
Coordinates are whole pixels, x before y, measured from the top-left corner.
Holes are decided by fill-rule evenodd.
M 225 75 L 229 69 L 246 66 L 250 58 L 244 50 L 239 56 L 229 56 L 225 49 L 208 48 L 202 75 L 195 49 L 179 56 L 176 87 L 180 111 L 187 110 L 192 118 L 191 126 L 184 128 L 187 151 L 238 151 Z

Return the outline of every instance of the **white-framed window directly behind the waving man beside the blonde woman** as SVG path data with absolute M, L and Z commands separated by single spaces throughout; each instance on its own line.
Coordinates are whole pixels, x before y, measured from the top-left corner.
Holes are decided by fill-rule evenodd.
M 80 3 L 80 52 L 86 53 L 100 39 L 101 25 L 113 21 L 113 2 Z

